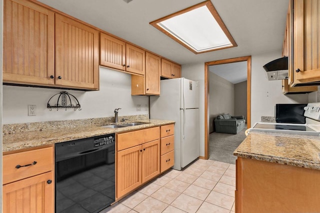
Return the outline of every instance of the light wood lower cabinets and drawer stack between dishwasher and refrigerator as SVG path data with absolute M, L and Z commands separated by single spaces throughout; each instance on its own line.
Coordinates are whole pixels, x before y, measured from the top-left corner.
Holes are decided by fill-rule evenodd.
M 117 134 L 116 199 L 173 166 L 173 134 L 174 124 Z

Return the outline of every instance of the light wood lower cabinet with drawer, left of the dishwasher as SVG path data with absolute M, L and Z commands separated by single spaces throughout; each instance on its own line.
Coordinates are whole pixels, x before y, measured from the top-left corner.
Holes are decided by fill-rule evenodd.
M 3 213 L 53 213 L 53 148 L 3 155 Z

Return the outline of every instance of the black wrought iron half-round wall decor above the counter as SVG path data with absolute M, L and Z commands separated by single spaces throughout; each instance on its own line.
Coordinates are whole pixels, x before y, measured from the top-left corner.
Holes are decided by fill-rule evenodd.
M 51 105 L 49 102 L 54 96 L 58 96 L 58 97 L 57 97 L 56 103 L 54 105 Z M 54 100 L 52 99 L 52 101 L 54 101 Z M 76 102 L 76 103 L 74 104 L 74 102 Z M 61 91 L 61 92 L 53 95 L 48 100 L 48 103 L 46 104 L 46 108 L 48 108 L 50 111 L 52 111 L 52 108 L 56 108 L 56 111 L 58 111 L 59 108 L 65 108 L 65 111 L 67 108 L 73 108 L 74 111 L 76 109 L 81 110 L 81 106 L 80 106 L 78 100 L 76 99 L 76 97 L 74 97 L 74 95 L 71 95 L 66 91 Z

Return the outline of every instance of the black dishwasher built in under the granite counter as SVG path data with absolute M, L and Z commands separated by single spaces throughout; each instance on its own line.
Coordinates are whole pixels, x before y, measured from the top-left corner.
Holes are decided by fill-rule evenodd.
M 55 144 L 55 212 L 97 213 L 115 200 L 114 134 Z

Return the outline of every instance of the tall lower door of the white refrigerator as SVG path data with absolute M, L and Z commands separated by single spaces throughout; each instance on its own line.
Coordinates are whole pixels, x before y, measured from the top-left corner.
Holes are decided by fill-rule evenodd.
M 181 167 L 199 157 L 199 109 L 180 110 Z

